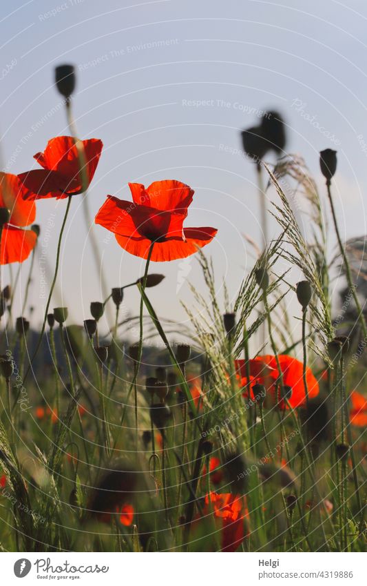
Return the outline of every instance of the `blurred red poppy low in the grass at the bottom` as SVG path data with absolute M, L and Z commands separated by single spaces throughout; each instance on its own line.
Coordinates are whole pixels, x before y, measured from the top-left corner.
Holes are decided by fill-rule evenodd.
M 210 503 L 210 504 L 209 504 Z M 220 529 L 220 550 L 235 551 L 245 537 L 249 536 L 246 497 L 230 493 L 211 492 L 205 496 L 202 517 L 213 514 L 217 529 Z M 200 516 L 197 517 L 200 519 Z

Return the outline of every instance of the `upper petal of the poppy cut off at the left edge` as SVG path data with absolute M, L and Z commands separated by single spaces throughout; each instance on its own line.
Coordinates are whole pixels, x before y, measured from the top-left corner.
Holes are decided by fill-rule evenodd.
M 30 226 L 36 217 L 35 204 L 23 199 L 26 193 L 17 175 L 0 173 L 0 207 L 8 208 L 14 226 Z

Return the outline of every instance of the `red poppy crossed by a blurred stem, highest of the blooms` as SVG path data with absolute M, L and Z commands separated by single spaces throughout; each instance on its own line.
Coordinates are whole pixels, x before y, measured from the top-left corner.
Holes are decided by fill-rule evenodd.
M 26 190 L 25 199 L 62 199 L 86 191 L 101 157 L 103 143 L 95 138 L 81 142 L 84 147 L 87 185 L 83 186 L 76 140 L 74 137 L 55 137 L 48 141 L 43 153 L 34 155 L 34 159 L 43 169 L 34 169 L 18 175 Z

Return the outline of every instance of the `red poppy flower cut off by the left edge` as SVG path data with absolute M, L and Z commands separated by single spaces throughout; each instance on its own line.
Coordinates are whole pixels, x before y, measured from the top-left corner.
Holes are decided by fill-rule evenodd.
M 37 236 L 32 230 L 19 226 L 30 226 L 36 217 L 36 206 L 25 202 L 23 188 L 17 175 L 0 173 L 0 208 L 10 211 L 8 224 L 1 231 L 0 264 L 23 262 L 33 250 Z

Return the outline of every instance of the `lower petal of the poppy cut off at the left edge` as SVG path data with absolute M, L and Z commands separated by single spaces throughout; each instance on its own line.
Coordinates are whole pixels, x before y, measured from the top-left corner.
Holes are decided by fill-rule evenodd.
M 36 245 L 36 240 L 33 230 L 21 230 L 6 224 L 1 233 L 0 264 L 23 262 Z

